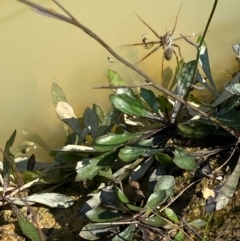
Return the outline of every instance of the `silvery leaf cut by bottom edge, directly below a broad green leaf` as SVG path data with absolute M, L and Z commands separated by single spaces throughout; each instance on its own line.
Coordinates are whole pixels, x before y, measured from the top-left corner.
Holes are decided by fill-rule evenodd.
M 114 233 L 118 226 L 118 224 L 89 223 L 82 228 L 79 235 L 87 240 L 97 240 L 108 233 Z

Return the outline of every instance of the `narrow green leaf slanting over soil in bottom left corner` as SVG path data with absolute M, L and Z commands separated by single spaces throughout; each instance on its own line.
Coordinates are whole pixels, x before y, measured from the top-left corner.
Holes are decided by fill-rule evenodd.
M 12 208 L 15 215 L 17 216 L 17 220 L 23 234 L 26 235 L 31 240 L 42 241 L 37 228 L 24 217 L 24 215 L 19 211 L 19 209 L 16 206 L 12 206 Z M 47 239 L 47 236 L 44 235 L 43 233 L 42 233 L 42 236 L 44 240 Z

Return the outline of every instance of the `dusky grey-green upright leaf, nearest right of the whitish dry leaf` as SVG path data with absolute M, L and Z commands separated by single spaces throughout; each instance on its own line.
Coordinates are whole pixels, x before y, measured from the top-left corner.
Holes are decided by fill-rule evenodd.
M 96 138 L 98 133 L 98 118 L 93 110 L 87 108 L 83 114 L 84 124 L 86 127 L 90 128 L 91 135 L 93 139 Z

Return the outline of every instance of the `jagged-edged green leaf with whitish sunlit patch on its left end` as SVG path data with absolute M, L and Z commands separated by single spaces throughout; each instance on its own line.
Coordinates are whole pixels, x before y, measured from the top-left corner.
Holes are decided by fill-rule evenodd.
M 94 158 L 85 158 L 77 163 L 75 181 L 92 179 L 99 171 L 109 168 L 117 158 L 117 152 L 107 152 Z

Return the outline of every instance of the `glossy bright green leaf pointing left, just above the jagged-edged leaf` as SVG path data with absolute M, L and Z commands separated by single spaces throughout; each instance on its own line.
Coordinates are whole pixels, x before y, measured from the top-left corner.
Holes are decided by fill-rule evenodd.
M 127 141 L 130 141 L 136 138 L 137 136 L 139 136 L 139 133 L 128 133 L 128 132 L 125 132 L 123 134 L 109 133 L 107 135 L 96 138 L 93 144 L 93 147 L 100 152 L 104 152 L 104 151 L 112 150 L 126 143 Z

